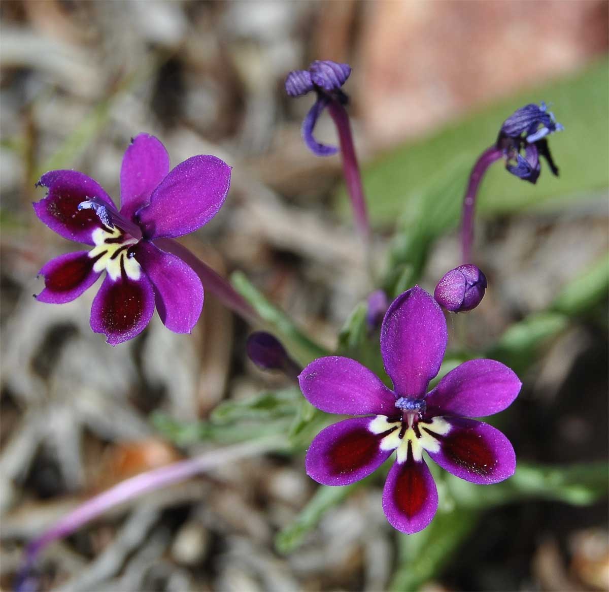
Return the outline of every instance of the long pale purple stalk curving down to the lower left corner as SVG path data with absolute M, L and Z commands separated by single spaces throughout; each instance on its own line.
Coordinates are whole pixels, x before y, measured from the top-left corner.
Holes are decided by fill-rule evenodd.
M 281 436 L 269 436 L 260 440 L 250 440 L 227 448 L 213 450 L 195 456 L 192 459 L 160 467 L 146 473 L 141 473 L 121 483 L 114 485 L 104 493 L 94 496 L 81 504 L 68 515 L 60 518 L 51 528 L 33 540 L 26 548 L 23 564 L 17 576 L 18 588 L 20 582 L 27 582 L 33 563 L 49 543 L 59 538 L 67 537 L 75 530 L 94 520 L 111 508 L 147 492 L 161 487 L 184 481 L 196 474 L 220 467 L 228 462 L 244 459 L 258 454 L 281 449 L 285 439 Z

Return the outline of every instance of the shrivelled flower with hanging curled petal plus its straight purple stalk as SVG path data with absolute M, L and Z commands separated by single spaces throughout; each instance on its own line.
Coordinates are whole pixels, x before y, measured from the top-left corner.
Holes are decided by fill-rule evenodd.
M 317 156 L 336 154 L 337 148 L 319 143 L 313 136 L 313 129 L 322 111 L 327 107 L 339 134 L 340 153 L 342 155 L 343 174 L 351 199 L 353 215 L 359 232 L 365 242 L 370 241 L 371 231 L 368 211 L 364 196 L 364 187 L 357 164 L 357 155 L 351 135 L 351 125 L 345 105 L 348 96 L 341 90 L 351 74 L 351 66 L 331 60 L 317 60 L 308 70 L 295 70 L 287 75 L 286 92 L 291 97 L 298 97 L 315 91 L 317 100 L 305 117 L 302 135 L 309 150 Z

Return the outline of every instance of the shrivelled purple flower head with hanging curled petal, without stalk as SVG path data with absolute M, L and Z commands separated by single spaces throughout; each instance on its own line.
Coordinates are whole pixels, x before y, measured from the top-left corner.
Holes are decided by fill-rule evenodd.
M 331 60 L 316 60 L 308 70 L 294 70 L 287 75 L 286 93 L 290 97 L 300 97 L 310 91 L 317 93 L 317 100 L 305 117 L 302 126 L 302 135 L 305 144 L 317 156 L 330 156 L 336 154 L 337 148 L 320 144 L 313 137 L 313 129 L 322 111 L 331 102 L 346 105 L 348 97 L 341 90 L 351 74 L 351 66 L 339 64 Z

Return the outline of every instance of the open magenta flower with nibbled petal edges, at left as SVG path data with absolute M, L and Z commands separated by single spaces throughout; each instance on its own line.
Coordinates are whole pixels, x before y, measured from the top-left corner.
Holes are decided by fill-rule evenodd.
M 169 171 L 169 155 L 154 136 L 133 139 L 122 160 L 121 209 L 92 178 L 77 171 L 50 171 L 38 185 L 48 189 L 33 207 L 51 230 L 83 242 L 89 251 L 51 259 L 41 270 L 41 302 L 77 298 L 105 270 L 91 308 L 91 328 L 111 345 L 132 339 L 155 309 L 175 333 L 189 333 L 203 307 L 203 286 L 182 259 L 155 239 L 190 233 L 211 220 L 224 203 L 231 168 L 198 155 Z

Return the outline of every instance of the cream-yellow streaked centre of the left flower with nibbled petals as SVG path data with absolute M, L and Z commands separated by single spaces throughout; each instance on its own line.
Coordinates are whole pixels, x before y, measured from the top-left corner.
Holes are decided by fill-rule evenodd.
M 125 274 L 130 280 L 138 281 L 141 269 L 130 250 L 138 244 L 138 239 L 132 238 L 114 227 L 96 228 L 91 234 L 95 246 L 90 250 L 91 259 L 96 259 L 93 270 L 97 273 L 108 272 L 112 281 L 118 280 Z

